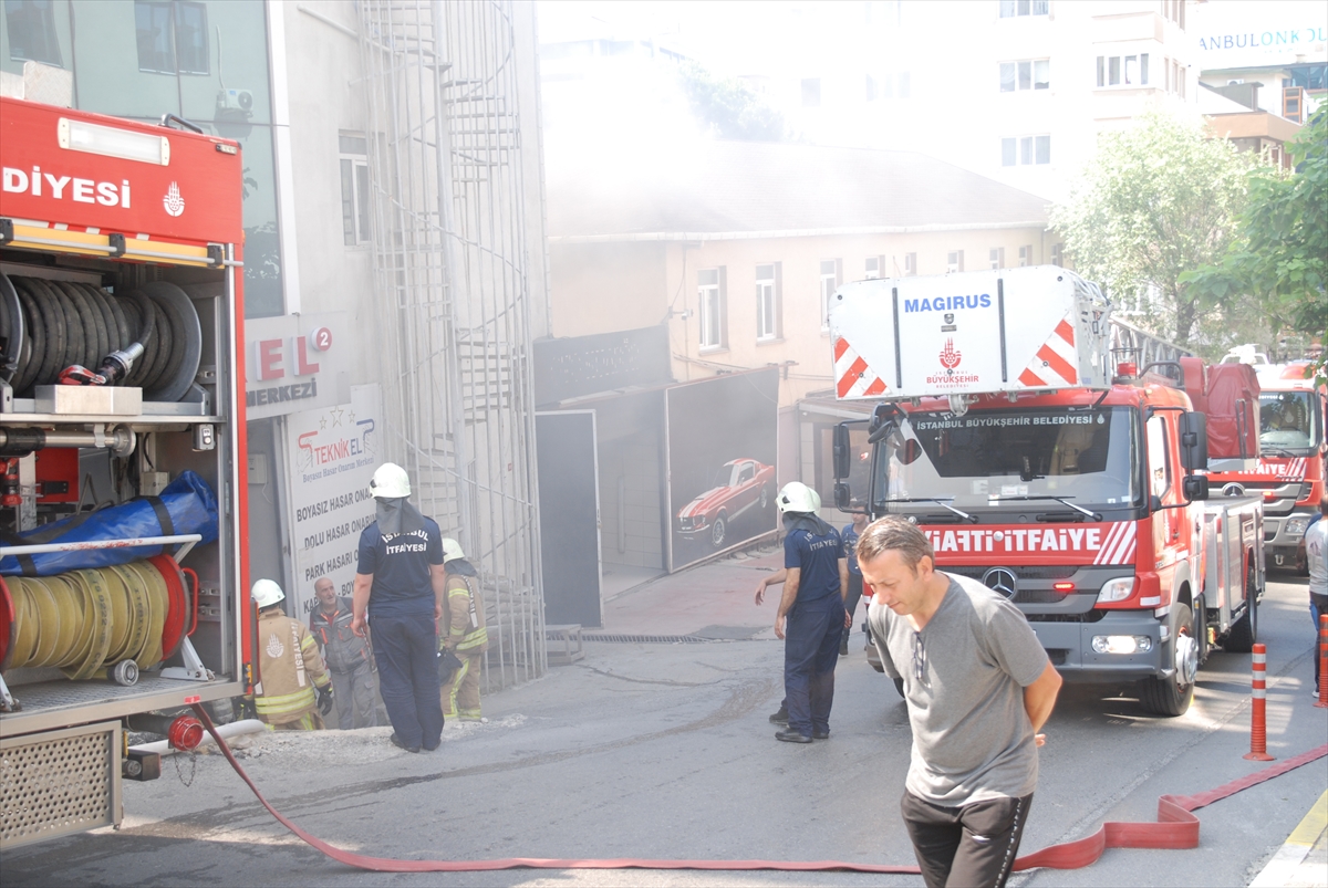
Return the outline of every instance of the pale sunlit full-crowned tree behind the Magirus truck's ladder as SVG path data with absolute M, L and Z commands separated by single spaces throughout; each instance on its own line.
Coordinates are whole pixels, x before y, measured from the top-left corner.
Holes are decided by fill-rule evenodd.
M 1069 199 L 1052 208 L 1052 227 L 1081 273 L 1142 312 L 1145 327 L 1191 346 L 1242 312 L 1183 276 L 1226 252 L 1254 162 L 1198 125 L 1149 111 L 1098 137 Z

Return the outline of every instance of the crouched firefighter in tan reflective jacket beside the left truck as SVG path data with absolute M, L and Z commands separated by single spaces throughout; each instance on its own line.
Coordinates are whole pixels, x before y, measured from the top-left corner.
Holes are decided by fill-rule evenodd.
M 317 642 L 303 623 L 282 612 L 286 593 L 276 583 L 258 580 L 250 593 L 259 608 L 259 682 L 254 686 L 259 719 L 268 730 L 321 730 L 323 715 L 332 711 L 332 677 Z

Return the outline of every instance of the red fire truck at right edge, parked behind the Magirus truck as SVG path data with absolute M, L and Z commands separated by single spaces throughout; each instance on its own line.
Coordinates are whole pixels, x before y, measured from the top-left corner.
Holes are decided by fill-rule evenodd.
M 1270 364 L 1242 346 L 1223 364 L 1250 364 L 1259 374 L 1259 458 L 1210 463 L 1208 481 L 1226 494 L 1263 496 L 1263 534 L 1275 567 L 1307 572 L 1305 528 L 1324 495 L 1328 393 L 1315 389 L 1309 361 Z

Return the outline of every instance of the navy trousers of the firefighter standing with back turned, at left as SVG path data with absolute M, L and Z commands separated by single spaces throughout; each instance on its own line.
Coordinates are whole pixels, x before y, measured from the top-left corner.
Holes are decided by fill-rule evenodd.
M 369 625 L 378 692 L 397 738 L 405 746 L 434 749 L 442 741 L 442 702 L 433 613 L 371 617 Z

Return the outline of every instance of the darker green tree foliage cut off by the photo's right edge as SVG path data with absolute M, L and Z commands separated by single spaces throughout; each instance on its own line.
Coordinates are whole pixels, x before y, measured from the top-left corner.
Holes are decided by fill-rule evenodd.
M 1328 328 L 1328 110 L 1287 145 L 1291 174 L 1250 175 L 1250 198 L 1227 251 L 1183 283 L 1208 300 L 1250 295 L 1272 332 Z

